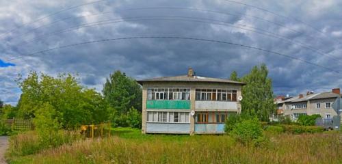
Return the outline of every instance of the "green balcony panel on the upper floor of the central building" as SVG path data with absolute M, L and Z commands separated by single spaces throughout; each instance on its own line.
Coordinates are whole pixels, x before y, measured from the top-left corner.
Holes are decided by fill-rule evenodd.
M 147 100 L 147 109 L 190 109 L 190 100 Z

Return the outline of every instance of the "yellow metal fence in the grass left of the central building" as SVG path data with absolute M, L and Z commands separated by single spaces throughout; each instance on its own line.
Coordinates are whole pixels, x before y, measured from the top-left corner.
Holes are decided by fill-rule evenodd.
M 111 131 L 111 124 L 91 124 L 81 126 L 81 135 L 94 139 L 95 137 L 109 137 Z

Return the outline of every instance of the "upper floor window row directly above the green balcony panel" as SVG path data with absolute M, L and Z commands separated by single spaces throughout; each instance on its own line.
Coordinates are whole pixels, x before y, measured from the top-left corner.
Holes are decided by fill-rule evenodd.
M 190 100 L 190 89 L 153 88 L 147 89 L 148 100 Z

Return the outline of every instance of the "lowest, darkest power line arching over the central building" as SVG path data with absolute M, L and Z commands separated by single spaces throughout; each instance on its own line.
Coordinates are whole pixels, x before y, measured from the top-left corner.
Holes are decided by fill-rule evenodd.
M 286 55 L 286 54 L 283 54 L 283 53 L 277 53 L 277 52 L 269 51 L 269 50 L 266 50 L 266 49 L 260 49 L 260 48 L 255 47 L 255 46 L 248 46 L 248 45 L 244 45 L 244 44 L 237 44 L 237 43 L 234 43 L 234 42 L 226 42 L 226 41 L 222 41 L 222 40 L 209 40 L 209 39 L 203 39 L 203 38 L 187 38 L 187 37 L 179 37 L 179 36 L 137 36 L 137 37 L 127 37 L 127 38 L 109 38 L 109 39 L 103 39 L 103 40 L 92 40 L 92 41 L 88 41 L 88 42 L 79 42 L 79 43 L 75 43 L 75 44 L 68 44 L 68 45 L 64 45 L 64 46 L 57 46 L 57 47 L 55 47 L 53 49 L 45 49 L 45 50 L 42 50 L 42 51 L 36 51 L 34 53 L 29 53 L 29 54 L 23 55 L 21 57 L 16 57 L 14 59 L 10 59 L 9 61 L 12 61 L 12 60 L 15 60 L 15 59 L 20 59 L 20 58 L 22 58 L 24 56 L 25 57 L 26 56 L 33 56 L 33 55 L 36 55 L 36 54 L 39 54 L 39 53 L 44 53 L 44 52 L 53 51 L 53 50 L 57 50 L 57 49 L 66 49 L 68 47 L 79 46 L 79 45 L 83 45 L 83 44 L 92 44 L 92 43 L 96 43 L 96 42 L 109 42 L 109 41 L 114 41 L 114 40 L 133 40 L 133 39 L 178 39 L 178 40 L 195 40 L 195 41 L 231 44 L 231 45 L 235 45 L 235 46 L 242 46 L 242 47 L 245 47 L 245 48 L 248 48 L 248 49 L 256 49 L 258 51 L 263 51 L 263 52 L 266 52 L 266 53 L 273 53 L 275 55 L 280 55 L 280 56 L 283 56 L 283 57 L 287 57 L 288 59 L 302 61 L 302 62 L 304 62 L 306 64 L 310 64 L 311 66 L 316 66 L 316 67 L 319 67 L 319 68 L 323 68 L 325 70 L 329 70 L 329 71 L 332 71 L 332 72 L 339 73 L 339 71 L 337 71 L 337 70 L 332 70 L 331 68 L 328 68 L 326 66 L 321 66 L 319 64 L 315 64 L 315 63 L 313 63 L 311 61 L 306 61 L 304 59 L 292 57 L 291 55 Z

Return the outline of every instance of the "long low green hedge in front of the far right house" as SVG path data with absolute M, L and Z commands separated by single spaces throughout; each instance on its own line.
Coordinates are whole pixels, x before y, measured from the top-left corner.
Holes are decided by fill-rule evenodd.
M 293 134 L 302 133 L 321 133 L 324 128 L 321 126 L 300 126 L 300 125 L 280 125 L 285 129 L 285 132 Z

